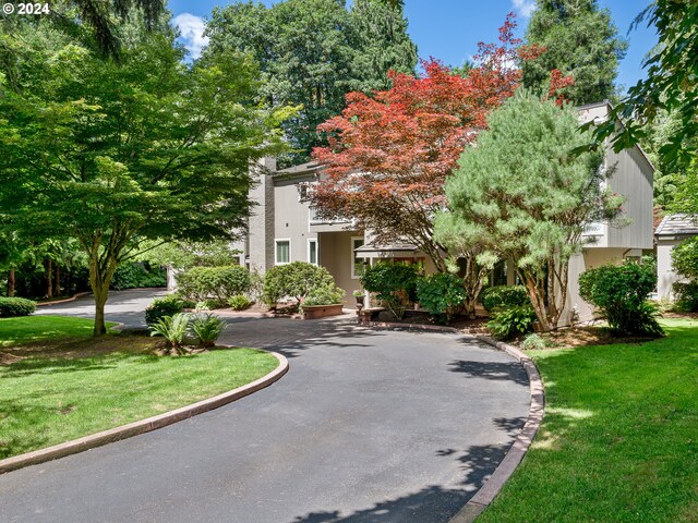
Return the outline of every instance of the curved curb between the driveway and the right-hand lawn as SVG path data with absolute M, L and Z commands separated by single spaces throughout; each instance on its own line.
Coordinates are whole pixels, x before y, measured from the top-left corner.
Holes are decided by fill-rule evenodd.
M 500 494 L 502 487 L 507 479 L 514 474 L 514 471 L 519 465 L 524 455 L 531 446 L 531 441 L 535 437 L 535 433 L 541 426 L 543 421 L 543 412 L 545 409 L 545 392 L 543 389 L 543 381 L 541 380 L 540 373 L 533 361 L 528 357 L 524 352 L 515 346 L 508 345 L 501 341 L 495 341 L 486 336 L 473 336 L 472 338 L 493 345 L 501 351 L 510 354 L 516 357 L 519 363 L 526 369 L 531 388 L 531 406 L 528 412 L 528 419 L 526 425 L 514 440 L 514 445 L 496 467 L 490 479 L 480 487 L 480 490 L 470 498 L 470 501 L 460 509 L 460 511 L 454 515 L 448 523 L 472 523 L 486 509 L 492 500 Z

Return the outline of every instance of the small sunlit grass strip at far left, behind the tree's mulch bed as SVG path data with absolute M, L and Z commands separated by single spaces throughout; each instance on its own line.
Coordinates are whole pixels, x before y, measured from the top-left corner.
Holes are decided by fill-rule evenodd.
M 0 318 L 0 348 L 47 339 L 88 338 L 92 319 L 67 316 L 23 316 Z M 107 328 L 117 324 L 107 324 Z

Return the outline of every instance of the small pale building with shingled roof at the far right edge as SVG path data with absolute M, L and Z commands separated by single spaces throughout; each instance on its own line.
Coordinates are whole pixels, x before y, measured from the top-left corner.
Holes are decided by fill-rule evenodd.
M 688 215 L 665 216 L 657 227 L 657 297 L 673 300 L 672 285 L 684 281 L 672 267 L 672 251 L 676 245 L 698 234 L 698 222 Z

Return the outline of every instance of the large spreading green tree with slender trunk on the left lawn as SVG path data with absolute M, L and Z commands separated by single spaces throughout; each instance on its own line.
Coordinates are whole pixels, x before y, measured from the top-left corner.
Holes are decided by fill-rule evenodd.
M 293 111 L 255 99 L 250 57 L 185 65 L 167 24 L 127 24 L 118 62 L 48 24 L 0 27 L 13 57 L 0 60 L 0 215 L 24 238 L 79 240 L 103 333 L 113 272 L 142 243 L 246 226 L 250 161 L 285 148 L 278 125 Z

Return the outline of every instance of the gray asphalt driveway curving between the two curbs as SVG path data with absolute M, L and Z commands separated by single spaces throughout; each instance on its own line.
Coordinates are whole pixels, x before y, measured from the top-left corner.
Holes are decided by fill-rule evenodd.
M 216 411 L 1 475 L 0 521 L 447 522 L 528 414 L 522 367 L 458 336 L 236 318 L 222 341 L 274 349 L 290 370 Z

